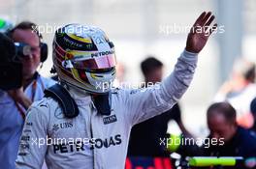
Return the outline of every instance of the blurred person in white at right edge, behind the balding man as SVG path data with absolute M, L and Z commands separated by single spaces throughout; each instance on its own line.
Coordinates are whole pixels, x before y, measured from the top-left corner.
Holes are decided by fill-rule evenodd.
M 215 100 L 226 100 L 237 110 L 237 122 L 242 127 L 252 127 L 253 117 L 250 102 L 256 97 L 255 64 L 245 59 L 238 59 L 231 74 L 218 91 Z

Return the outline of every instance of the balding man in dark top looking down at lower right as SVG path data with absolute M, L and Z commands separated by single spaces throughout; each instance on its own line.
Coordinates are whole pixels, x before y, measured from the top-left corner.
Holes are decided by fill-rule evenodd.
M 211 145 L 204 155 L 256 156 L 256 137 L 236 121 L 236 109 L 228 102 L 216 102 L 208 107 L 209 138 L 223 139 L 224 145 Z

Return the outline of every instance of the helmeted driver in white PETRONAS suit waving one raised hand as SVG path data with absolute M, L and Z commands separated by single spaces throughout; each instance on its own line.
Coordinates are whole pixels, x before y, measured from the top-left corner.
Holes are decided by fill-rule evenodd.
M 217 27 L 209 26 L 213 19 L 211 13 L 199 16 L 175 70 L 161 84 L 131 90 L 112 88 L 114 46 L 100 28 L 59 28 L 52 47 L 59 84 L 29 108 L 16 168 L 38 169 L 45 158 L 48 169 L 124 168 L 131 127 L 169 110 L 181 98 L 198 53 Z

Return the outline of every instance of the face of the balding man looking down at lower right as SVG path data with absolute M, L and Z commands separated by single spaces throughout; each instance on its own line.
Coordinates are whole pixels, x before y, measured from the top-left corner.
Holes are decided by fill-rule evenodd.
M 208 117 L 208 128 L 212 138 L 224 138 L 224 141 L 229 141 L 236 132 L 236 125 L 228 122 L 218 113 L 212 113 Z

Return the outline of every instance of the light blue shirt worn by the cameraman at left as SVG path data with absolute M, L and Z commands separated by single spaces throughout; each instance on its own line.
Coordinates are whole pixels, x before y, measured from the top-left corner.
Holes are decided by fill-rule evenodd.
M 31 100 L 44 97 L 44 90 L 55 82 L 37 75 L 24 93 Z M 0 163 L 4 169 L 16 168 L 18 141 L 24 124 L 26 110 L 12 99 L 7 92 L 0 90 Z

